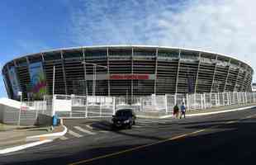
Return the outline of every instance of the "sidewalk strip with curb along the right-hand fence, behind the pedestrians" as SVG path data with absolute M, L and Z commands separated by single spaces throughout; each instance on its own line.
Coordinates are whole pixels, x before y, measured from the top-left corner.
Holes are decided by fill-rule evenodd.
M 230 106 L 216 106 L 207 108 L 205 110 L 188 110 L 186 116 L 198 116 L 198 115 L 211 115 L 217 113 L 224 113 L 229 111 L 241 111 L 247 109 L 251 106 L 256 106 L 256 103 L 243 104 L 243 105 L 230 105 Z M 168 117 L 173 117 L 172 113 L 164 112 L 136 112 L 137 117 L 141 118 L 151 118 L 151 119 L 164 119 Z

